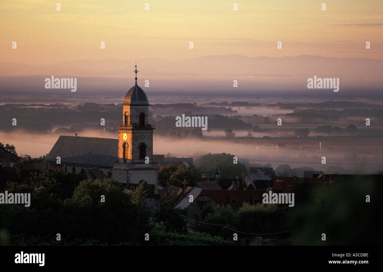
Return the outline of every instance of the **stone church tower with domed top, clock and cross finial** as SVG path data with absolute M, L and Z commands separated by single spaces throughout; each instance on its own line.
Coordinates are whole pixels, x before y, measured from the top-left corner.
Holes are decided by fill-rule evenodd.
M 113 178 L 122 183 L 157 183 L 158 164 L 153 162 L 153 130 L 149 124 L 149 101 L 145 92 L 135 84 L 126 93 L 122 123 L 118 130 L 118 162 L 114 163 Z

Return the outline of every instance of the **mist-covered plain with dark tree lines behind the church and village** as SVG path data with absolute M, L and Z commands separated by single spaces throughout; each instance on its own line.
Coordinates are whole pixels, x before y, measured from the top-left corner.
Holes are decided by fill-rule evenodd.
M 57 103 L 0 105 L 0 141 L 16 146 L 20 154 L 39 157 L 48 153 L 60 135 L 116 138 L 116 123 L 122 122 L 121 104 Z M 198 158 L 208 152 L 231 153 L 247 167 L 270 162 L 274 168 L 327 166 L 342 173 L 376 173 L 383 165 L 383 105 L 380 101 L 325 101 L 270 103 L 244 101 L 152 104 L 149 122 L 154 130 L 154 153 Z M 359 107 L 363 107 L 360 109 Z M 177 128 L 175 116 L 208 116 L 208 130 Z M 11 120 L 16 118 L 17 126 Z M 105 126 L 100 119 L 105 119 Z M 277 119 L 282 119 L 282 126 Z M 366 126 L 370 118 L 372 126 Z M 357 130 L 347 130 L 354 124 Z M 296 130 L 307 127 L 308 137 L 297 138 Z M 228 137 L 226 129 L 232 129 Z M 323 138 L 316 138 L 321 135 Z M 250 136 L 250 137 L 249 137 Z M 270 138 L 264 138 L 264 136 Z M 325 150 L 319 151 L 322 142 Z M 275 152 L 263 146 L 285 146 Z M 332 167 L 332 168 L 331 168 Z M 339 168 L 340 167 L 340 168 Z

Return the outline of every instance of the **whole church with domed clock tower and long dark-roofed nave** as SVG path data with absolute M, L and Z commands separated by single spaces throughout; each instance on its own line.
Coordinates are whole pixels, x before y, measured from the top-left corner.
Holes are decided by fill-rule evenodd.
M 158 185 L 159 156 L 153 156 L 154 125 L 149 124 L 149 101 L 136 82 L 122 103 L 122 123 L 117 124 L 118 139 L 61 135 L 45 158 L 65 173 L 84 173 L 97 168 L 128 186 L 146 181 Z M 164 155 L 162 155 L 164 157 Z M 153 158 L 157 162 L 154 162 Z M 93 169 L 94 171 L 94 169 Z

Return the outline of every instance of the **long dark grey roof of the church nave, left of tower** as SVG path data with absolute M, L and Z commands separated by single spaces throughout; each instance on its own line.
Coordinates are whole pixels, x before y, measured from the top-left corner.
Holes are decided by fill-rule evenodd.
M 61 135 L 44 161 L 56 163 L 58 156 L 61 165 L 111 168 L 118 159 L 118 139 Z

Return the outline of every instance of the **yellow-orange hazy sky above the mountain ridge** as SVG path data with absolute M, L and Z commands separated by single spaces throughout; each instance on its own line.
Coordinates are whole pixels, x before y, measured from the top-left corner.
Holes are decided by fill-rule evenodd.
M 210 54 L 383 59 L 382 19 L 382 0 L 2 0 L 0 61 L 39 66 Z

